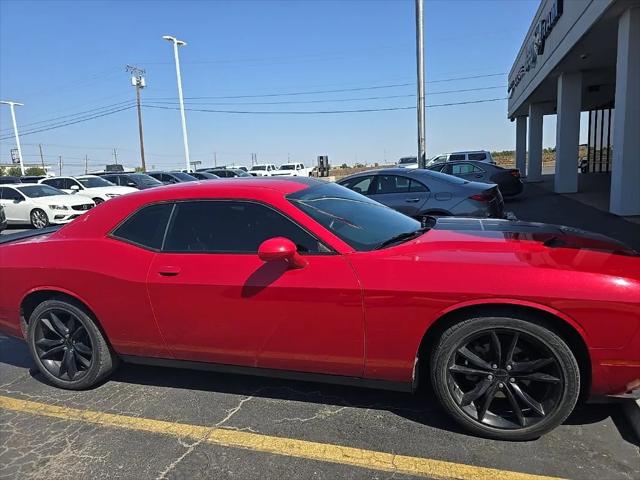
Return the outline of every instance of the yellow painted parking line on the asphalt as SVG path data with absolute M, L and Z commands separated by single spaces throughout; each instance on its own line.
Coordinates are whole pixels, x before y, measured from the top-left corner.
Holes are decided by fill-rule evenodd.
M 91 410 L 80 410 L 1 395 L 0 408 L 69 421 L 89 422 L 104 427 L 172 435 L 175 437 L 201 440 L 205 443 L 215 445 L 428 478 L 456 480 L 495 480 L 497 478 L 501 480 L 552 479 L 552 477 L 527 473 L 476 467 L 429 458 L 394 455 L 392 453 L 308 442 L 306 440 L 296 440 L 293 438 L 272 437 L 225 428 L 205 427 L 185 423 L 165 422 L 150 418 L 137 418 Z

